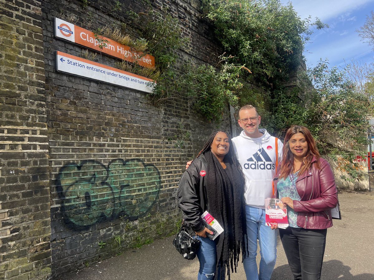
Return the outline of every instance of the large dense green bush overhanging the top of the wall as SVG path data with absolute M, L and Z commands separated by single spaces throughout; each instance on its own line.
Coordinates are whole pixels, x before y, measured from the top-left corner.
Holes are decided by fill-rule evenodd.
M 216 38 L 232 63 L 251 71 L 247 81 L 272 88 L 284 80 L 289 69 L 297 68 L 304 44 L 313 33 L 309 28 L 323 28 L 317 19 L 301 20 L 292 4 L 279 0 L 222 1 L 204 0 L 206 17 L 214 24 Z

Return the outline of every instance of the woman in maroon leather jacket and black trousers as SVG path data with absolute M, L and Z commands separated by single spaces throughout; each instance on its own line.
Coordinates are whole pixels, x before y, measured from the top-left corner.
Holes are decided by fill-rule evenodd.
M 278 170 L 276 195 L 287 205 L 289 222 L 279 234 L 289 267 L 295 280 L 319 280 L 327 228 L 332 227 L 330 209 L 338 197 L 330 165 L 306 127 L 295 125 L 287 131 Z

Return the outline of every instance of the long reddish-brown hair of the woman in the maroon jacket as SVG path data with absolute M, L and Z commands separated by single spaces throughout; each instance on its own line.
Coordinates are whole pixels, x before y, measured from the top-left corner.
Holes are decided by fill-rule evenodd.
M 305 171 L 309 170 L 312 167 L 313 157 L 317 159 L 316 167 L 319 169 L 319 155 L 316 140 L 314 140 L 312 133 L 306 127 L 292 125 L 286 133 L 283 145 L 283 159 L 281 164 L 281 175 L 279 178 L 287 178 L 291 172 L 294 172 L 294 154 L 289 149 L 289 139 L 294 136 L 296 133 L 302 133 L 308 144 L 308 151 L 303 158 L 303 165 L 301 166 L 299 174 L 303 174 Z

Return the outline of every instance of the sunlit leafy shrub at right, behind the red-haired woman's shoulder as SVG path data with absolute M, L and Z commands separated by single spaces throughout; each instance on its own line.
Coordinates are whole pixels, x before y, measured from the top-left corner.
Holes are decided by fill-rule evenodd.
M 329 68 L 326 61 L 308 71 L 314 89 L 310 93 L 308 121 L 323 153 L 358 151 L 367 144 L 368 98 L 357 90 L 347 69 Z

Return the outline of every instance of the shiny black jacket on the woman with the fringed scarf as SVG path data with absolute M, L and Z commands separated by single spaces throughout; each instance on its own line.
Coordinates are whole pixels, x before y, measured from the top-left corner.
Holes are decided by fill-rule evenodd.
M 204 155 L 194 159 L 179 180 L 177 194 L 178 206 L 182 210 L 186 227 L 197 232 L 202 231 L 205 227 L 201 215 L 206 210 L 209 211 L 205 174 L 202 172 L 203 175 L 200 175 L 201 171 L 206 172 L 206 165 Z

